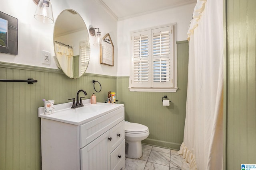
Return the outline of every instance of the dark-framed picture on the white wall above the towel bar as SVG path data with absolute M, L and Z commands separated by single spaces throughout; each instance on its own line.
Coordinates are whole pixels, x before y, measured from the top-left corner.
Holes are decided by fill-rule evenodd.
M 0 12 L 0 52 L 18 55 L 18 19 Z

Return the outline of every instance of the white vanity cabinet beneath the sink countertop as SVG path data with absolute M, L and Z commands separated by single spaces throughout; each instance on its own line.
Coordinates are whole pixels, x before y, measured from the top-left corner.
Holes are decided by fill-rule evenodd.
M 41 117 L 42 170 L 124 170 L 123 105 L 81 124 L 46 116 Z

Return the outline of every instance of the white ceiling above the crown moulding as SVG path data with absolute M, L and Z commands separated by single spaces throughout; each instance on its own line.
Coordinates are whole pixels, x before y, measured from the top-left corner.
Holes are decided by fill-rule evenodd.
M 196 3 L 196 0 L 96 0 L 120 19 Z

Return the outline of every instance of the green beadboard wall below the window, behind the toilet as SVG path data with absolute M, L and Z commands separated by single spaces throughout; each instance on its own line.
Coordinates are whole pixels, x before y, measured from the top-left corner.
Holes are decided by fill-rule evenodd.
M 129 77 L 117 78 L 117 99 L 125 106 L 125 119 L 148 126 L 150 135 L 142 143 L 180 149 L 183 142 L 188 79 L 188 41 L 177 42 L 178 90 L 167 92 L 130 92 Z M 168 96 L 170 106 L 162 106 Z

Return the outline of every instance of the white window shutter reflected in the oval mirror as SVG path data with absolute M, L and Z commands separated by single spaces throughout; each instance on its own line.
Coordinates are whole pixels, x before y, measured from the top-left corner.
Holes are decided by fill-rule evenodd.
M 84 74 L 90 59 L 90 46 L 88 42 L 80 42 L 80 73 Z

